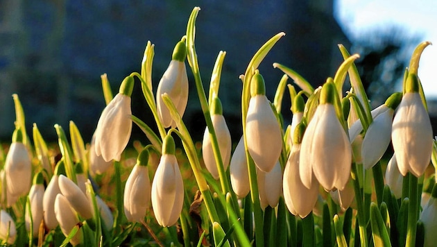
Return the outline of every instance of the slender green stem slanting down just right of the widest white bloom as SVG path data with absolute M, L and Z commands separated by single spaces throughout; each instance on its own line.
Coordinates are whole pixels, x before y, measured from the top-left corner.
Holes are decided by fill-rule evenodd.
M 352 180 L 354 180 L 355 201 L 357 201 L 357 217 L 359 225 L 359 238 L 361 246 L 368 246 L 367 230 L 366 230 L 366 217 L 364 215 L 363 197 L 361 195 L 361 189 L 359 187 L 357 164 L 352 164 Z

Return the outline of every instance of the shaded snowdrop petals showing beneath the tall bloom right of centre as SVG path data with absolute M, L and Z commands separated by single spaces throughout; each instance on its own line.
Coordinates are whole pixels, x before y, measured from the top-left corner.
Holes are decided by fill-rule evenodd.
M 276 207 L 282 192 L 282 170 L 280 162 L 276 162 L 275 167 L 269 172 L 259 170 L 257 178 L 261 207 Z

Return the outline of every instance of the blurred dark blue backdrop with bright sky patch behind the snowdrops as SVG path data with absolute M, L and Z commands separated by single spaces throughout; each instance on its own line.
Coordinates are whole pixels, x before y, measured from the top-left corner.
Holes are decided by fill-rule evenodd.
M 337 46 L 343 44 L 361 55 L 357 67 L 373 107 L 401 89 L 414 47 L 425 40 L 437 42 L 437 4 L 433 1 L 419 0 L 413 5 L 410 1 L 357 0 L 0 0 L 0 141 L 10 142 L 15 121 L 12 94 L 16 93 L 26 113 L 29 135 L 37 123 L 43 137 L 54 141 L 53 125 L 68 130 L 69 121 L 74 121 L 89 142 L 105 106 L 101 74 L 108 74 L 116 94 L 125 76 L 140 71 L 150 40 L 155 44 L 156 90 L 174 45 L 185 35 L 194 6 L 201 8 L 196 50 L 205 90 L 218 52 L 227 52 L 219 97 L 234 141 L 241 135 L 239 75 L 257 49 L 276 33 L 284 31 L 286 36 L 259 68 L 269 99 L 273 101 L 282 77 L 273 62 L 294 69 L 318 86 L 334 76 L 343 61 Z M 425 50 L 419 70 L 433 117 L 435 50 L 432 46 Z M 184 120 L 194 139 L 200 140 L 205 121 L 191 71 L 188 74 L 191 85 Z M 285 95 L 287 123 L 291 114 Z M 132 112 L 155 127 L 139 83 L 132 94 Z M 145 140 L 136 127 L 133 135 L 131 139 Z

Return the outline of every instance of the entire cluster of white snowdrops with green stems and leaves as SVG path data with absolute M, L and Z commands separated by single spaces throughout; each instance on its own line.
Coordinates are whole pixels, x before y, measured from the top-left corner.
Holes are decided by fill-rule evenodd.
M 437 237 L 437 189 L 429 170 L 436 164 L 436 146 L 418 78 L 420 54 L 430 43 L 419 44 L 413 52 L 402 92 L 371 110 L 354 65 L 359 56 L 350 56 L 341 45 L 344 62 L 334 78 L 316 89 L 292 69 L 273 64 L 284 77 L 271 103 L 257 67 L 284 36 L 278 33 L 240 76 L 243 136 L 232 153 L 218 98 L 225 52 L 218 53 L 207 97 L 194 45 L 199 10 L 191 12 L 187 33 L 175 45 L 155 94 L 154 46 L 148 42 L 141 72 L 127 76 L 118 94 L 112 96 L 102 76 L 107 105 L 89 145 L 73 122 L 70 142 L 55 125 L 62 157 L 53 165 L 36 124 L 31 143 L 24 110 L 14 95 L 16 128 L 1 170 L 3 244 L 432 246 Z M 182 120 L 189 92 L 186 60 L 207 124 L 200 153 Z M 347 76 L 350 90 L 343 92 Z M 158 133 L 132 115 L 135 78 Z M 281 117 L 286 89 L 293 113 L 289 124 Z M 125 181 L 122 158 L 133 123 L 150 144 L 141 148 Z M 175 138 L 182 143 L 197 185 L 191 205 Z M 394 154 L 387 162 L 383 156 L 391 143 Z M 158 162 L 151 181 L 149 164 Z M 108 207 L 110 202 L 99 196 L 93 181 L 112 167 L 114 207 Z M 151 215 L 164 228 L 151 228 Z M 142 229 L 146 231 L 139 235 Z

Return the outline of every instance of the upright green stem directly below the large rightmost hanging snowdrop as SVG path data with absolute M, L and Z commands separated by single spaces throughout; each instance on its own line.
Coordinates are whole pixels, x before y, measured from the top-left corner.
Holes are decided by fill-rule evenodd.
M 408 223 L 406 228 L 406 247 L 415 246 L 415 233 L 418 221 L 418 178 L 410 175 Z

